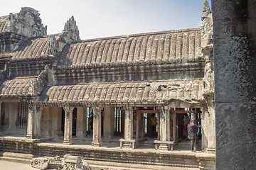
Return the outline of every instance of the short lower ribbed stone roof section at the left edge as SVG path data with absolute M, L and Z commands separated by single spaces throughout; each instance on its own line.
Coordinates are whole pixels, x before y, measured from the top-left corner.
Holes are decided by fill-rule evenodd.
M 31 96 L 31 94 L 29 94 L 31 79 L 32 78 L 29 77 L 4 81 L 0 86 L 0 96 Z

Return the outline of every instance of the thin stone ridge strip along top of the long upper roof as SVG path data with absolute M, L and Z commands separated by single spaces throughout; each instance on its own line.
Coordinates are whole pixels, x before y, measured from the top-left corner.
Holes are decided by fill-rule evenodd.
M 91 38 L 87 40 L 80 40 L 78 42 L 91 42 L 91 41 L 100 41 L 100 40 L 111 40 L 117 38 L 131 38 L 131 37 L 138 37 L 138 36 L 145 36 L 145 35 L 157 35 L 157 34 L 166 34 L 166 33 L 182 33 L 187 31 L 194 31 L 200 30 L 200 28 L 188 28 L 188 29 L 179 29 L 179 30 L 163 30 L 163 31 L 156 31 L 156 32 L 149 32 L 149 33 L 137 33 L 137 34 L 129 34 L 129 35 L 117 35 L 117 36 L 110 36 L 110 37 L 103 37 L 103 38 Z M 77 43 L 77 42 L 75 42 Z

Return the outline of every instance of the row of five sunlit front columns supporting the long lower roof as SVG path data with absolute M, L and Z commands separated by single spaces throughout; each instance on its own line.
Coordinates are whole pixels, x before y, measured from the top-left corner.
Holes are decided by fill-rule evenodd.
M 65 111 L 65 127 L 64 127 L 64 145 L 72 144 L 72 123 L 73 123 L 73 107 L 63 107 Z M 101 118 L 102 118 L 101 107 L 93 107 L 93 135 L 92 135 L 92 146 L 101 146 Z M 38 107 L 33 103 L 28 104 L 28 128 L 27 138 L 40 138 L 41 137 L 41 114 L 42 107 Z M 125 107 L 125 120 L 124 120 L 124 139 L 133 139 L 133 111 L 132 107 Z M 159 137 L 162 141 L 170 140 L 170 125 L 169 125 L 169 108 L 167 106 L 159 107 L 160 111 L 160 128 Z M 82 119 L 78 119 L 82 120 Z

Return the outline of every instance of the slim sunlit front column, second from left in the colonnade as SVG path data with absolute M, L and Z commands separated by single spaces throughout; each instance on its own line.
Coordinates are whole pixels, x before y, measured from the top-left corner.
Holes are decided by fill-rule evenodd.
M 64 145 L 72 144 L 72 122 L 73 122 L 73 107 L 63 107 L 65 111 L 65 126 L 64 126 Z

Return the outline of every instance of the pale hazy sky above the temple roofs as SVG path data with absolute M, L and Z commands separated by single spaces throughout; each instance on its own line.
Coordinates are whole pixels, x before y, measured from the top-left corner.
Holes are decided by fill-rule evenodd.
M 0 16 L 18 13 L 23 6 L 41 13 L 48 34 L 60 33 L 74 16 L 80 38 L 85 40 L 198 28 L 203 0 L 7 0 L 1 1 Z

